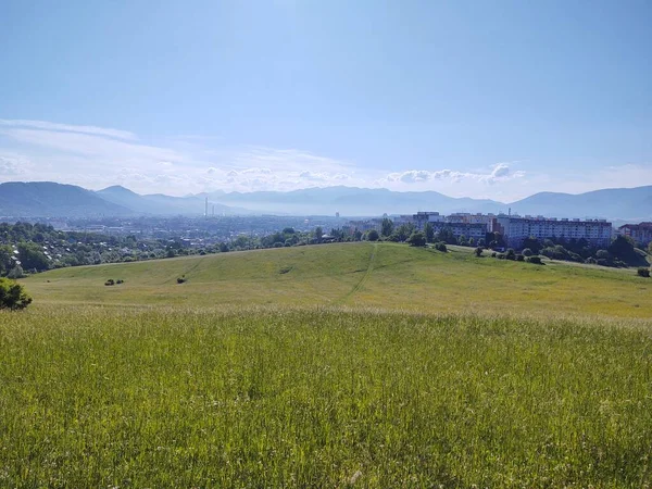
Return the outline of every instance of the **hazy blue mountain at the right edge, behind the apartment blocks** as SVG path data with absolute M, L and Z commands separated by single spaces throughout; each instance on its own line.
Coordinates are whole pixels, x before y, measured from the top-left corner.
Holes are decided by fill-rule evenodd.
M 510 204 L 512 212 L 555 217 L 652 221 L 652 186 L 610 188 L 586 193 L 535 193 Z

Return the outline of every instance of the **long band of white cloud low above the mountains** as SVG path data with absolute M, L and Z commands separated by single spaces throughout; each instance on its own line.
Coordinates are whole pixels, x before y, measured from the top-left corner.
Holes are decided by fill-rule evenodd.
M 652 183 L 650 163 L 593 167 L 581 174 L 573 174 L 569 165 L 567 172 L 528 170 L 526 175 L 517 170 L 524 166 L 523 161 L 479 170 L 403 165 L 391 172 L 300 149 L 228 147 L 216 138 L 192 136 L 146 141 L 120 129 L 0 120 L 0 179 L 53 180 L 92 189 L 120 184 L 140 193 L 183 196 L 344 184 L 510 201 L 543 190 L 580 192 Z M 546 162 L 537 162 L 537 167 L 544 168 Z

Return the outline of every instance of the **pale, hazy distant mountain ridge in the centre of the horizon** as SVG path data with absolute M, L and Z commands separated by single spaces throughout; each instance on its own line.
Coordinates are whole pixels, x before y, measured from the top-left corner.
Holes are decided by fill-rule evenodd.
M 265 213 L 297 215 L 339 212 L 341 215 L 412 214 L 416 211 L 506 212 L 506 205 L 492 200 L 452 198 L 435 191 L 394 192 L 384 188 L 327 187 L 290 192 L 230 192 L 208 195 L 211 200 L 228 205 L 242 205 Z

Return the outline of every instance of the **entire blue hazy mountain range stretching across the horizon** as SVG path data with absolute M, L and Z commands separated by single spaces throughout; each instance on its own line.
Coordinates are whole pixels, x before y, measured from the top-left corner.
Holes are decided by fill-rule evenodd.
M 549 217 L 603 217 L 611 221 L 652 221 L 652 186 L 603 189 L 586 193 L 540 192 L 503 203 L 487 199 L 452 198 L 435 191 L 396 192 L 355 187 L 308 188 L 289 192 L 198 193 L 187 197 L 139 195 L 121 186 L 92 191 L 51 181 L 0 184 L 0 216 L 90 217 L 130 215 L 293 214 L 377 216 L 417 211 L 518 213 Z

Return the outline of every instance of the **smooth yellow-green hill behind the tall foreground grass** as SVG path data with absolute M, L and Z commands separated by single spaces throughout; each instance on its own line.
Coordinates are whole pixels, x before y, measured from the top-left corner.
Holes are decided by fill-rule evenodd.
M 177 284 L 185 276 L 187 283 Z M 104 281 L 124 279 L 106 287 Z M 394 243 L 281 248 L 62 268 L 24 280 L 36 304 L 348 305 L 478 314 L 652 317 L 631 271 L 499 261 Z

